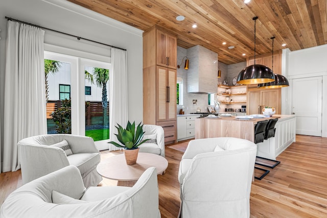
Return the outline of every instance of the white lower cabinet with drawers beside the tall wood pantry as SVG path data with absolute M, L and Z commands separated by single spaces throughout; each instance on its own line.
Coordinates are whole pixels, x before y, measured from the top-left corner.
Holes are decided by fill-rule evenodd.
M 195 119 L 199 115 L 177 116 L 177 141 L 194 138 Z

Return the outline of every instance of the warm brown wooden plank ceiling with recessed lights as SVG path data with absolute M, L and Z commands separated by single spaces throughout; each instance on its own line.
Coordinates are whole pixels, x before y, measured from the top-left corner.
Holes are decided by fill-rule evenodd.
M 225 64 L 288 47 L 291 51 L 327 43 L 325 0 L 68 0 L 141 30 L 158 25 L 174 32 L 185 49 L 202 45 Z M 183 15 L 183 21 L 176 16 Z M 192 28 L 192 25 L 197 28 Z M 226 42 L 225 45 L 222 43 Z M 282 46 L 286 43 L 286 46 Z M 228 46 L 235 46 L 228 49 Z M 242 56 L 245 54 L 245 56 Z

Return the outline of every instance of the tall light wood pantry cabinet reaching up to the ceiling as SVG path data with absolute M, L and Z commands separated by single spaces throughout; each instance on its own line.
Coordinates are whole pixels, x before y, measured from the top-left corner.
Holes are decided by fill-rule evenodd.
M 158 27 L 143 33 L 143 123 L 164 128 L 165 143 L 177 140 L 177 38 Z

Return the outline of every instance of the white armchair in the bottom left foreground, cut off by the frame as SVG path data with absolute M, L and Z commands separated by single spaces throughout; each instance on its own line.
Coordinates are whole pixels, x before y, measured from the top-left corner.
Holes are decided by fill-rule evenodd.
M 155 167 L 133 187 L 83 185 L 76 166 L 66 166 L 13 191 L 0 216 L 14 217 L 160 217 Z

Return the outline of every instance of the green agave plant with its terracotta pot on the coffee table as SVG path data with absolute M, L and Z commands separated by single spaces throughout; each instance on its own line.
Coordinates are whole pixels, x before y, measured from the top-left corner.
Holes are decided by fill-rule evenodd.
M 109 141 L 108 143 L 113 144 L 116 147 L 124 148 L 124 155 L 126 159 L 126 163 L 128 165 L 132 165 L 136 163 L 137 155 L 138 155 L 138 146 L 148 141 L 149 139 L 142 140 L 143 135 L 143 125 L 139 123 L 135 130 L 135 122 L 131 124 L 129 121 L 127 123 L 126 129 L 124 129 L 121 125 L 117 124 L 115 128 L 118 131 L 118 134 L 114 134 L 119 143 L 114 141 Z

